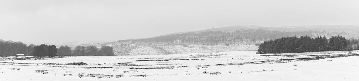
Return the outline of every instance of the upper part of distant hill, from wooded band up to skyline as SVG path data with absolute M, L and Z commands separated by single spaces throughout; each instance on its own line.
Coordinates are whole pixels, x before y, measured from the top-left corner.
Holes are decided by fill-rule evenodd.
M 359 26 L 353 25 L 317 25 L 317 26 L 229 26 L 200 31 L 178 32 L 146 39 L 119 40 L 118 43 L 229 43 L 243 41 L 265 41 L 286 36 L 307 35 L 359 37 Z

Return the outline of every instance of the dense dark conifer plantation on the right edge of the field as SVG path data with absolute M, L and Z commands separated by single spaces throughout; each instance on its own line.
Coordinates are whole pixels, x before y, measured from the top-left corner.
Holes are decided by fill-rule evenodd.
M 346 39 L 343 36 L 326 36 L 312 38 L 310 36 L 282 37 L 280 39 L 264 41 L 258 47 L 257 54 L 266 53 L 298 53 L 316 51 L 344 51 L 359 50 L 358 39 Z

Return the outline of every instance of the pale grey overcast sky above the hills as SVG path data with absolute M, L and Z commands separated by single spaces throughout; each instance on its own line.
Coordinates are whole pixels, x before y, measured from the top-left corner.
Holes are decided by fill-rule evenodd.
M 359 25 L 359 0 L 1 0 L 0 39 L 117 41 L 233 25 Z

